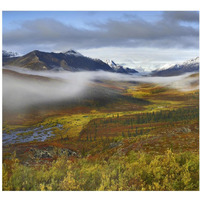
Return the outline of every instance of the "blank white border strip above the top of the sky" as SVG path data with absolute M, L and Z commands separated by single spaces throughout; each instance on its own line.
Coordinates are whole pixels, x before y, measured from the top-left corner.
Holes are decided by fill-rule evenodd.
M 2 10 L 200 10 L 198 0 L 1 0 Z

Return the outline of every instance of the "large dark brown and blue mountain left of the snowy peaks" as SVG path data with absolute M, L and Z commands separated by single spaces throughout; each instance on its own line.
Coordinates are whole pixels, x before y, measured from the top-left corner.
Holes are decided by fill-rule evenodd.
M 112 68 L 103 61 L 82 56 L 73 50 L 66 53 L 47 53 L 35 50 L 14 60 L 5 60 L 3 65 L 32 70 L 53 70 L 60 68 L 68 71 L 104 70 L 113 72 Z

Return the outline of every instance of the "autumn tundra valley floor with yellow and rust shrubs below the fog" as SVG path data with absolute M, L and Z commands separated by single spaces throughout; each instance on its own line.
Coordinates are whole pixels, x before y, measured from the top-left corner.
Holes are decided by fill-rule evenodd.
M 101 95 L 4 108 L 3 190 L 199 190 L 198 89 L 89 87 Z

